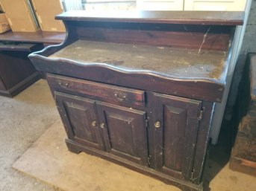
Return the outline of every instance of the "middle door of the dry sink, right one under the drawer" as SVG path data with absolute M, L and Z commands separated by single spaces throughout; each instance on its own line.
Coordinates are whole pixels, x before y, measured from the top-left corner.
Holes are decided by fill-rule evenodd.
M 146 112 L 106 103 L 97 110 L 107 152 L 147 166 Z

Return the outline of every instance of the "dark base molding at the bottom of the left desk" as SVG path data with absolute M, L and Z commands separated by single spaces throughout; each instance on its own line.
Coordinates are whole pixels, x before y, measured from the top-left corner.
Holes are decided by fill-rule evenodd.
M 22 80 L 18 84 L 14 85 L 12 88 L 7 90 L 0 90 L 0 95 L 6 97 L 14 97 L 21 91 L 25 90 L 25 88 L 28 88 L 28 86 L 32 85 L 34 82 L 37 82 L 37 80 L 40 80 L 40 78 L 40 74 L 38 72 L 35 72 L 31 76 L 27 77 L 25 80 Z

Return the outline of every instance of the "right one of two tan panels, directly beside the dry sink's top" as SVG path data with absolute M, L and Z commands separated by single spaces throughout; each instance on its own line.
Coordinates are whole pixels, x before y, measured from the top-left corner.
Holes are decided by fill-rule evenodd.
M 55 20 L 57 14 L 63 12 L 60 0 L 31 0 L 34 11 L 37 15 L 40 28 L 44 31 L 64 32 L 65 27 L 62 21 Z

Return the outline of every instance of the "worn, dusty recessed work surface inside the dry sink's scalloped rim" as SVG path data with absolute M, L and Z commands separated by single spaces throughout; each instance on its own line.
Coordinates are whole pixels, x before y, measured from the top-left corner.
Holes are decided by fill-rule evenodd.
M 122 71 L 144 71 L 175 78 L 222 82 L 225 51 L 202 51 L 149 45 L 78 40 L 49 56 L 81 65 L 104 65 Z

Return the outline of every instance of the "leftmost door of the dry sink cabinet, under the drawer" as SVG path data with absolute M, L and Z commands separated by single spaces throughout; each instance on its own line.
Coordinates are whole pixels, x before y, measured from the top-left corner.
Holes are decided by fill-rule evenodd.
M 54 95 L 69 139 L 84 146 L 103 149 L 95 101 L 59 92 L 54 92 Z

